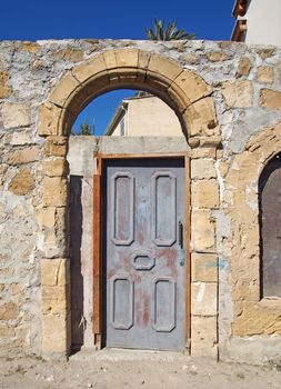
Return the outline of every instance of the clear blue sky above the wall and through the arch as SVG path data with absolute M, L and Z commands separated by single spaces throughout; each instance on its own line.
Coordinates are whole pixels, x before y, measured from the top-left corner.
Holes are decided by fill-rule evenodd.
M 2 0 L 0 40 L 68 38 L 145 39 L 153 18 L 177 21 L 178 28 L 197 39 L 229 40 L 234 0 Z M 103 94 L 78 118 L 104 128 L 120 99 L 131 91 Z

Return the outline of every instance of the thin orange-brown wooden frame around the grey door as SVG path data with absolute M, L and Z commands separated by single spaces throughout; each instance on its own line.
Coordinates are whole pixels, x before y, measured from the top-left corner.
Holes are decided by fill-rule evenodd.
M 190 351 L 191 337 L 191 262 L 190 262 L 190 152 L 170 152 L 163 153 L 120 153 L 120 154 L 93 154 L 93 221 L 92 236 L 93 256 L 92 256 L 92 331 L 93 343 L 97 349 L 101 349 L 102 345 L 102 171 L 103 162 L 116 159 L 183 159 L 184 160 L 184 239 L 185 239 L 185 348 Z

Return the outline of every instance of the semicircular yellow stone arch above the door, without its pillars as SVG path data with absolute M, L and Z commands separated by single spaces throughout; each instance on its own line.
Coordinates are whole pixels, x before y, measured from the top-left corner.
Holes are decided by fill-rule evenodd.
M 69 71 L 40 107 L 39 134 L 68 136 L 93 98 L 118 88 L 160 97 L 175 111 L 188 138 L 219 134 L 211 87 L 177 62 L 138 49 L 103 51 Z

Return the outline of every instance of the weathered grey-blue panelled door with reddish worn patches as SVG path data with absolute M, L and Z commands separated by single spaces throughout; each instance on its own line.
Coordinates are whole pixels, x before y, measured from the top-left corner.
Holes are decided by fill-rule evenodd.
M 184 161 L 110 160 L 104 167 L 104 342 L 184 346 Z

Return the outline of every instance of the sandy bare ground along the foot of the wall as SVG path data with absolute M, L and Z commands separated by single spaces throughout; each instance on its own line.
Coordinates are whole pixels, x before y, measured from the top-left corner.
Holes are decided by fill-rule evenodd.
M 281 388 L 280 366 L 171 358 L 71 358 L 67 361 L 0 359 L 1 389 L 149 388 L 269 389 Z

